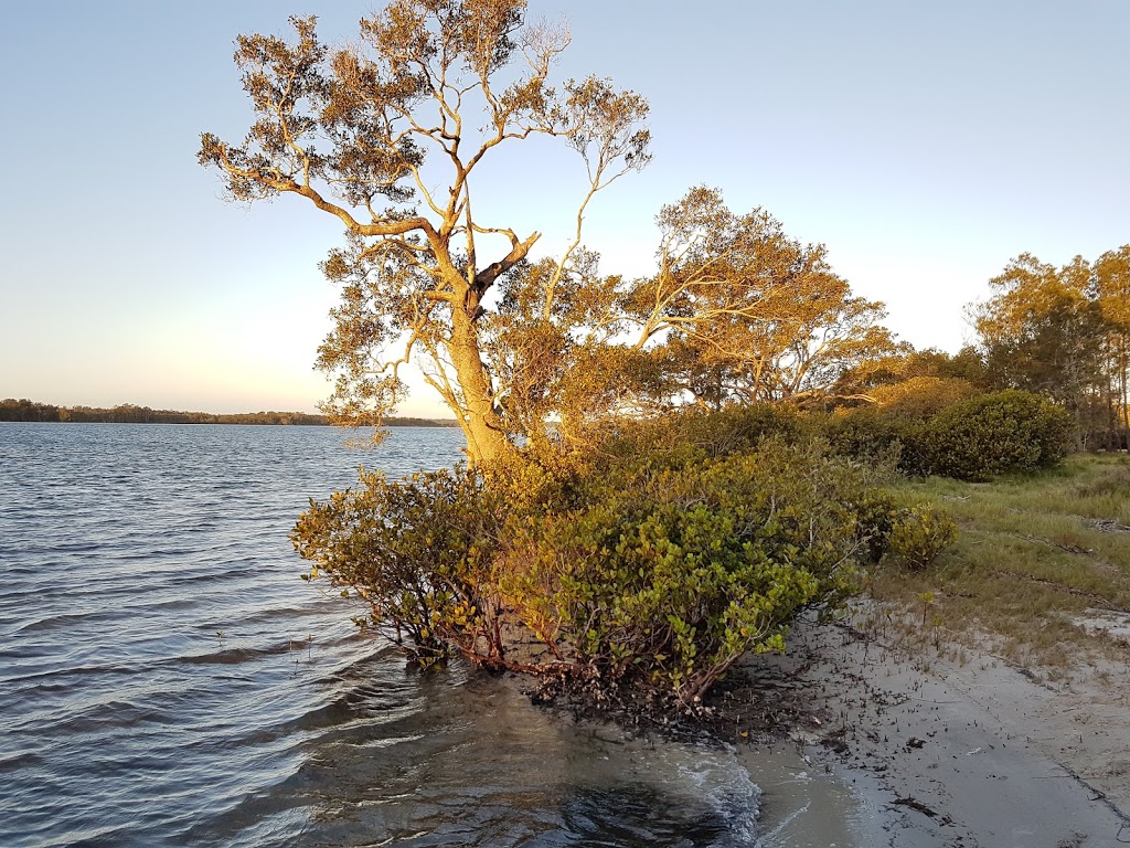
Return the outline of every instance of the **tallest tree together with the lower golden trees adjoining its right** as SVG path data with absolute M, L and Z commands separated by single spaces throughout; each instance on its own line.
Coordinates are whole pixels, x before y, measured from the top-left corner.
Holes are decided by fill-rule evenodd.
M 687 403 L 805 400 L 894 349 L 883 304 L 854 296 L 824 245 L 763 209 L 732 213 L 697 187 L 658 216 L 659 267 L 601 272 L 581 243 L 593 197 L 650 161 L 646 101 L 600 77 L 550 84 L 564 26 L 525 0 L 391 0 L 330 47 L 314 18 L 292 40 L 246 35 L 235 61 L 254 123 L 241 144 L 201 136 L 228 194 L 295 194 L 346 226 L 323 263 L 338 284 L 318 367 L 336 421 L 380 424 L 419 369 L 467 436 L 472 464 L 522 440 L 566 439 L 624 414 Z M 502 152 L 563 139 L 586 167 L 560 256 L 537 232 L 483 219 L 472 187 Z M 502 168 L 495 164 L 497 161 Z

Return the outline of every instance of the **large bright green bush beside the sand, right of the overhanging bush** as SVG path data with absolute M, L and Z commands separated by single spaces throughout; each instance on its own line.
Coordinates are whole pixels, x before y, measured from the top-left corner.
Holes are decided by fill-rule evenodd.
M 694 702 L 741 656 L 783 648 L 806 606 L 852 587 L 875 533 L 863 475 L 771 442 L 680 469 L 610 469 L 590 502 L 507 534 L 503 596 L 602 685 Z

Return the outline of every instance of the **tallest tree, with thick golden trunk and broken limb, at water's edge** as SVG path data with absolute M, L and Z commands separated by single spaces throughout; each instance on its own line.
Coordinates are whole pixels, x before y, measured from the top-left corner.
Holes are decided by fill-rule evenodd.
M 312 17 L 290 19 L 293 42 L 240 36 L 235 60 L 255 122 L 240 145 L 203 133 L 199 153 L 232 198 L 297 194 L 346 227 L 345 246 L 323 266 L 342 292 L 318 360 L 337 374 L 327 412 L 380 424 L 405 396 L 400 369 L 416 362 L 459 419 L 472 462 L 511 450 L 503 401 L 515 386 L 492 373 L 485 317 L 496 289 L 529 275 L 539 237 L 483 220 L 472 178 L 534 136 L 559 137 L 582 156 L 588 187 L 574 237 L 538 266 L 548 321 L 571 275 L 584 272 L 579 249 L 593 196 L 650 159 L 646 101 L 598 77 L 551 87 L 570 34 L 527 25 L 525 7 L 393 0 L 360 21 L 357 45 L 336 50 L 319 41 Z

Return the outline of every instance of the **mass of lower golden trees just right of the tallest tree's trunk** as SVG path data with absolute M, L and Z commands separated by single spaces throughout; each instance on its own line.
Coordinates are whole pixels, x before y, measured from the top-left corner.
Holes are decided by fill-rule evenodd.
M 485 348 L 527 438 L 545 438 L 550 417 L 577 439 L 599 419 L 686 403 L 822 397 L 846 369 L 894 349 L 877 323 L 883 304 L 853 297 L 824 246 L 790 239 L 768 213 L 737 215 L 698 187 L 657 224 L 647 277 L 601 275 L 577 250 L 564 275 L 528 263 L 499 286 Z

